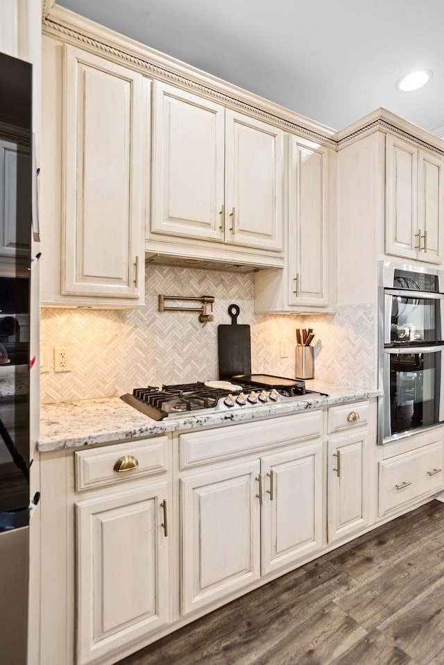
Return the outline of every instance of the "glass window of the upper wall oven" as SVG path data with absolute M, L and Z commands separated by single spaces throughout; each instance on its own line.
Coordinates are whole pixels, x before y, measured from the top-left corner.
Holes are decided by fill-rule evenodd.
M 390 343 L 441 342 L 441 300 L 388 296 L 391 298 Z

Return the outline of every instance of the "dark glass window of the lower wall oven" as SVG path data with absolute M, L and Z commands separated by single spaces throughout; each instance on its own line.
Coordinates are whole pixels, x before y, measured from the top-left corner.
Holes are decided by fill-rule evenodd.
M 441 351 L 390 355 L 391 434 L 439 422 Z

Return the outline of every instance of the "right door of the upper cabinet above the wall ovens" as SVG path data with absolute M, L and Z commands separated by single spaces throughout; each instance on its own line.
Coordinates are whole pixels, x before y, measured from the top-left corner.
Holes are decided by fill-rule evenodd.
M 442 263 L 441 226 L 444 210 L 444 162 L 425 150 L 418 151 L 418 259 Z

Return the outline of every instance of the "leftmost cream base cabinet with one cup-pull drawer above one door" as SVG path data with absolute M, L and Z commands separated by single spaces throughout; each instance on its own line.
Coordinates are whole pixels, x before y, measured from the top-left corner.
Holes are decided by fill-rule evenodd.
M 45 455 L 41 665 L 109 665 L 166 629 L 171 475 L 167 435 Z

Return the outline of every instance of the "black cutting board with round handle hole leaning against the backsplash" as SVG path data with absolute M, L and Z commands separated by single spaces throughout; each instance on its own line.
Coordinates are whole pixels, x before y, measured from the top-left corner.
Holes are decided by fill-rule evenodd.
M 251 373 L 250 326 L 237 323 L 239 305 L 230 305 L 231 325 L 218 326 L 219 378 L 230 379 L 234 374 Z

